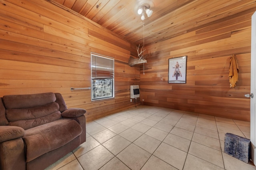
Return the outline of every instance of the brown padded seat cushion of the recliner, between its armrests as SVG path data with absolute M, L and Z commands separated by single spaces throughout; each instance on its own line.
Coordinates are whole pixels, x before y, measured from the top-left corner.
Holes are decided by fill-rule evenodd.
M 82 133 L 82 127 L 72 119 L 59 119 L 26 130 L 26 162 L 58 149 Z

